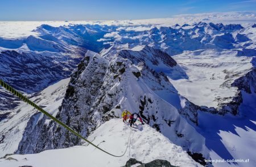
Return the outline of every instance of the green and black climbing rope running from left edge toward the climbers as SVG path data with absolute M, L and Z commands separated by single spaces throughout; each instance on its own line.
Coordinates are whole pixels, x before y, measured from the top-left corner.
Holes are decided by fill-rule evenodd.
M 53 121 L 55 121 L 57 124 L 59 124 L 60 126 L 63 126 L 65 129 L 67 129 L 69 132 L 71 132 L 72 134 L 76 135 L 77 137 L 79 137 L 82 140 L 85 140 L 85 142 L 88 142 L 89 144 L 93 145 L 93 147 L 96 147 L 97 149 L 100 149 L 101 151 L 107 153 L 108 155 L 114 156 L 114 157 L 122 157 L 125 155 L 127 148 L 128 148 L 128 142 L 130 140 L 130 135 L 129 135 L 129 139 L 127 142 L 127 147 L 125 149 L 125 152 L 120 155 L 113 155 L 112 153 L 109 153 L 107 151 L 105 151 L 104 149 L 98 147 L 97 145 L 93 144 L 92 142 L 90 142 L 89 140 L 85 139 L 83 136 L 81 136 L 78 132 L 76 132 L 75 130 L 71 129 L 71 127 L 65 125 L 65 123 L 61 122 L 59 119 L 53 117 L 51 114 L 49 114 L 48 112 L 46 112 L 45 110 L 43 110 L 42 108 L 40 108 L 40 106 L 36 105 L 34 102 L 30 101 L 26 96 L 22 95 L 22 93 L 16 91 L 13 87 L 11 87 L 10 85 L 8 85 L 7 83 L 3 82 L 3 80 L 0 79 L 0 84 L 3 88 L 5 88 L 7 91 L 13 93 L 13 95 L 18 96 L 19 99 L 23 100 L 24 102 L 26 102 L 27 104 L 30 104 L 31 106 L 33 106 L 35 109 L 39 110 L 39 112 L 43 113 L 44 115 L 46 115 L 47 117 L 51 118 Z

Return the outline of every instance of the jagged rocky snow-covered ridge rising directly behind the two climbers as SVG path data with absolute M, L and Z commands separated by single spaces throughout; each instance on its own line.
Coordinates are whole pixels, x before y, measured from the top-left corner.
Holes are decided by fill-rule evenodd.
M 112 53 L 110 49 L 109 54 Z M 57 118 L 88 136 L 105 121 L 120 117 L 122 109 L 137 111 L 144 122 L 167 136 L 173 143 L 181 145 L 186 151 L 201 153 L 208 159 L 210 151 L 206 147 L 207 143 L 204 142 L 201 130 L 196 130 L 196 125 L 200 123 L 197 114 L 218 111 L 196 106 L 177 93 L 168 79 L 172 78 L 168 68 L 178 69 L 175 74 L 182 74 L 184 71 L 174 59 L 166 62 L 169 66 L 164 71 L 156 72 L 159 68 L 154 66 L 154 62 L 166 65 L 163 63 L 166 61 L 165 53 L 160 50 L 144 46 L 120 50 L 112 56 L 109 54 L 104 52 L 104 58 L 97 53 L 86 53 L 79 68 L 72 75 Z M 251 80 L 253 82 L 254 79 Z M 238 110 L 241 102 L 237 101 L 234 104 L 236 109 L 231 112 Z M 47 126 L 44 126 L 46 122 Z M 191 125 L 189 122 L 195 124 Z M 38 129 L 32 122 L 28 123 L 17 153 L 36 153 L 82 144 L 76 136 L 54 122 L 48 122 L 46 117 L 38 122 L 38 126 L 43 128 Z

